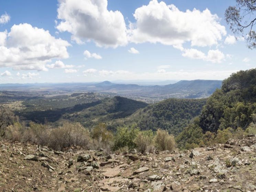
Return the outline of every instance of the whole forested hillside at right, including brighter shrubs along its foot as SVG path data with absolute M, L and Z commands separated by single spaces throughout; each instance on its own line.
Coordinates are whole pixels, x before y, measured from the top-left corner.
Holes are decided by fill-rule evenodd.
M 239 71 L 222 83 L 202 112 L 176 138 L 181 148 L 225 143 L 229 138 L 256 134 L 256 69 Z

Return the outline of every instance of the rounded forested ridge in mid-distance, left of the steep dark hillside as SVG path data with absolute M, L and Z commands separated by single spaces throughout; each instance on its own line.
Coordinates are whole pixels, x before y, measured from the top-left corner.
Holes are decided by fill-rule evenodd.
M 138 110 L 124 121 L 136 123 L 142 130 L 158 128 L 177 135 L 192 118 L 200 114 L 205 99 L 166 99 Z

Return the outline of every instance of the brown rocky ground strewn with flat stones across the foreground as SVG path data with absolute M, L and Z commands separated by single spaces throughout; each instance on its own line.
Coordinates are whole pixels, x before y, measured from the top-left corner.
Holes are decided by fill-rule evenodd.
M 0 140 L 0 191 L 256 191 L 256 137 L 108 156 Z

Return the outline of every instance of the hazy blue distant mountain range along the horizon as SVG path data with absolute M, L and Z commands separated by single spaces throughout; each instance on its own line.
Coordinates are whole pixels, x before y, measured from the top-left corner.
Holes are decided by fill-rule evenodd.
M 206 98 L 216 88 L 219 80 L 182 80 L 165 86 L 140 86 L 137 84 L 116 84 L 110 81 L 100 83 L 35 83 L 0 84 L 3 90 L 58 91 L 58 92 L 100 92 L 120 95 L 131 99 L 160 101 L 168 98 Z

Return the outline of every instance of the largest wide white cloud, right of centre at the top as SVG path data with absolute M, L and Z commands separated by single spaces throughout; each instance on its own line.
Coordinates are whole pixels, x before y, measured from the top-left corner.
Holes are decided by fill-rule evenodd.
M 152 0 L 137 8 L 134 17 L 136 23 L 130 24 L 130 41 L 135 43 L 159 42 L 182 49 L 185 42 L 191 46 L 216 45 L 226 35 L 225 26 L 209 9 L 183 12 L 173 4 Z

